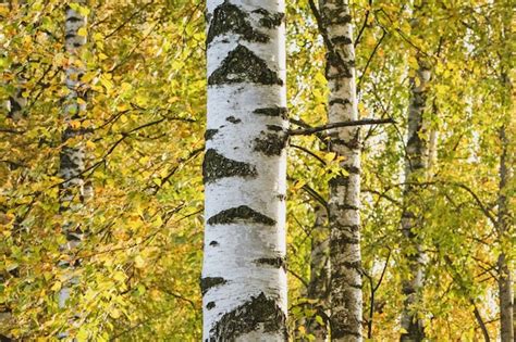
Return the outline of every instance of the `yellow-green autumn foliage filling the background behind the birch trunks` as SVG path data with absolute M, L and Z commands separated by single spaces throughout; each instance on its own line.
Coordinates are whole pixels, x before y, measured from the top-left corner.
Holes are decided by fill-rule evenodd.
M 0 110 L 0 333 L 56 335 L 79 308 L 79 321 L 67 328 L 78 341 L 198 341 L 205 3 L 75 4 L 88 17 L 79 58 L 64 48 L 66 4 L 0 5 L 0 100 L 10 103 Z M 359 115 L 394 122 L 363 128 L 364 334 L 370 339 L 401 333 L 409 269 L 400 221 L 407 205 L 422 221 L 428 259 L 418 312 L 428 337 L 499 335 L 500 255 L 514 269 L 513 10 L 511 0 L 433 0 L 419 9 L 415 28 L 405 1 L 352 3 Z M 325 49 L 308 1 L 288 1 L 286 29 L 292 127 L 323 125 Z M 423 139 L 433 141 L 434 157 L 407 202 L 407 107 L 421 59 L 432 67 Z M 70 65 L 84 68 L 88 93 L 76 119 L 63 116 Z M 66 127 L 84 134 L 63 140 Z M 94 194 L 63 212 L 60 152 L 78 144 Z M 324 324 L 307 291 L 314 241 L 327 233 L 314 229 L 316 212 L 339 162 L 321 135 L 290 141 L 288 328 L 296 340 L 312 339 L 308 320 Z M 84 232 L 73 253 L 61 248 L 64 223 Z M 77 262 L 66 307 L 59 305 L 70 277 L 63 262 Z

